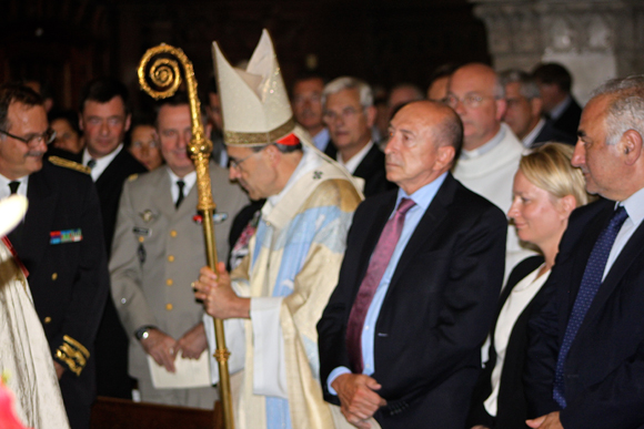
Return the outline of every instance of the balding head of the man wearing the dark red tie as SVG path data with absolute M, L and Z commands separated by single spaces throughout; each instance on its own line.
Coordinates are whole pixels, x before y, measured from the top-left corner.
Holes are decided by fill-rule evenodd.
M 461 149 L 463 127 L 454 111 L 432 101 L 403 106 L 391 120 L 386 178 L 407 194 L 449 171 Z

